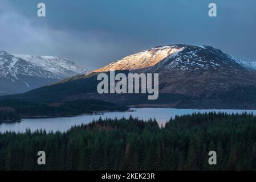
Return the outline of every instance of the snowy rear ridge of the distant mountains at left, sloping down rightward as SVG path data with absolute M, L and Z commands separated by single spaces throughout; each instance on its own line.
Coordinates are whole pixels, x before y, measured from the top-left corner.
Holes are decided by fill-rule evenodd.
M 60 78 L 67 78 L 88 72 L 88 69 L 78 67 L 73 61 L 58 56 L 14 55 L 27 62 L 52 72 Z

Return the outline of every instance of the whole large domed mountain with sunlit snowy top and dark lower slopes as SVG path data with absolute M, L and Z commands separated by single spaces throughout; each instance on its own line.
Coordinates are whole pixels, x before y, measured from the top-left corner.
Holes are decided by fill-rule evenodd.
M 96 98 L 132 106 L 197 109 L 256 109 L 256 63 L 210 46 L 159 46 L 56 84 L 5 98 L 58 102 Z M 147 94 L 98 94 L 97 74 L 159 73 L 159 98 Z

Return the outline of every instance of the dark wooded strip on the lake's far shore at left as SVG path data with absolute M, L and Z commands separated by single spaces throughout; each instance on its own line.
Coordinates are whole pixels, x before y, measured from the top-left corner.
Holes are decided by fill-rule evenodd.
M 67 117 L 105 110 L 124 111 L 128 110 L 128 107 L 92 99 L 63 101 L 52 104 L 7 99 L 0 102 L 0 122 L 17 121 L 25 117 Z

